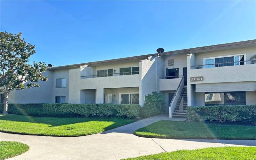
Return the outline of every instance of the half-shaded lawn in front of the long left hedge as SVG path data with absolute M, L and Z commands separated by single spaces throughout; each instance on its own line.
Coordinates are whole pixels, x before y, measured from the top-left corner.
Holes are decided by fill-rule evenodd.
M 52 118 L 1 115 L 0 131 L 44 136 L 84 136 L 132 122 L 131 119 L 122 118 Z

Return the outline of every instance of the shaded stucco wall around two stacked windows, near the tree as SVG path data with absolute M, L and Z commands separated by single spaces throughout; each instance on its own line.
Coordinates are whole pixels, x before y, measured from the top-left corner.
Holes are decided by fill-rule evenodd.
M 52 103 L 55 103 L 55 96 L 65 96 L 65 103 L 68 103 L 69 69 L 53 70 L 52 77 Z M 57 78 L 66 78 L 67 84 L 65 88 L 56 88 Z

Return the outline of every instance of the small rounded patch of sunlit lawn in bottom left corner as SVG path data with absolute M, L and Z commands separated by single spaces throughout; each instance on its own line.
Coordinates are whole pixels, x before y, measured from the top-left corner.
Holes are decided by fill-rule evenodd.
M 28 145 L 20 142 L 0 141 L 0 159 L 18 156 L 28 151 Z

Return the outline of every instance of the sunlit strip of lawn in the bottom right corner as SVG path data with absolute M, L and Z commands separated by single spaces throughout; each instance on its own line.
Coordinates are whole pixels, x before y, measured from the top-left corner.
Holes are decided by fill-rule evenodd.
M 196 150 L 180 150 L 155 155 L 129 158 L 131 160 L 173 159 L 173 160 L 255 160 L 256 147 L 218 147 Z

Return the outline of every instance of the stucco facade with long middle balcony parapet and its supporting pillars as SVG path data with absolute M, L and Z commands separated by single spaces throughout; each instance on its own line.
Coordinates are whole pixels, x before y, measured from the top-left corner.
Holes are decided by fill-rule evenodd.
M 130 61 L 130 62 L 124 62 L 124 63 L 121 63 L 121 62 L 110 63 L 110 64 L 95 66 L 95 72 L 96 70 L 100 70 L 100 69 L 113 68 L 113 69 L 116 69 L 116 73 L 118 73 L 119 68 L 135 67 L 135 66 L 139 66 L 139 61 Z M 123 75 L 123 76 L 118 75 L 118 76 L 95 77 L 95 78 L 80 78 L 81 70 L 82 70 L 81 68 L 69 70 L 68 103 L 81 102 L 80 90 L 96 89 L 96 103 L 104 103 L 104 95 L 105 95 L 104 89 L 140 86 L 141 68 L 140 68 L 140 74 L 136 74 L 136 75 Z

